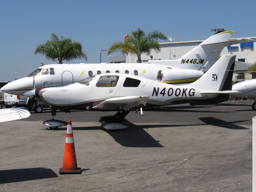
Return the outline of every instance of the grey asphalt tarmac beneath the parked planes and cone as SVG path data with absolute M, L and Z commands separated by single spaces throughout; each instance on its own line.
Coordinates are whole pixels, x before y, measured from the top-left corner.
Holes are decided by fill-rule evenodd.
M 252 191 L 251 102 L 130 112 L 136 126 L 104 130 L 114 112 L 57 112 L 72 120 L 82 174 L 60 175 L 66 127 L 46 130 L 50 110 L 1 123 L 0 191 Z

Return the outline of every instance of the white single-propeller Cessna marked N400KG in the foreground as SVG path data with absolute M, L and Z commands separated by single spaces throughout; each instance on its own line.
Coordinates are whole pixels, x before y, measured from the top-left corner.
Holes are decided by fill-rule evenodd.
M 70 85 L 42 87 L 26 92 L 56 109 L 118 111 L 100 118 L 108 130 L 132 126 L 125 116 L 132 109 L 171 104 L 217 104 L 228 100 L 236 56 L 224 55 L 199 80 L 186 85 L 170 85 L 130 74 L 100 74 Z M 47 120 L 46 126 L 62 126 L 59 120 Z M 58 126 L 56 126 L 58 125 Z M 64 125 L 64 124 L 63 124 Z

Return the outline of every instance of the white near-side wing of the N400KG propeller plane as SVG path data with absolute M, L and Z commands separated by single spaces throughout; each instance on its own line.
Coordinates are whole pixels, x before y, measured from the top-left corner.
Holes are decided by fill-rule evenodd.
M 127 97 L 114 97 L 109 98 L 100 104 L 92 107 L 98 110 L 124 110 L 128 111 L 140 104 L 146 105 L 149 96 L 127 96 Z

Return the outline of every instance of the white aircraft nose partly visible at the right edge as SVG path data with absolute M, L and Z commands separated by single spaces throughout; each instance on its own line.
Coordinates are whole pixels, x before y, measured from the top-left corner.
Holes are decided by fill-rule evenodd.
M 239 92 L 234 94 L 236 96 L 256 98 L 256 79 L 236 83 L 232 86 L 232 91 Z M 256 110 L 256 102 L 252 104 L 252 109 Z

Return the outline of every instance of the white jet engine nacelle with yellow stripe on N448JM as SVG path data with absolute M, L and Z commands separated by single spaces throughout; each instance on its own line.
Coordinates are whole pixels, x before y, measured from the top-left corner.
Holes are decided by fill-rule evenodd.
M 157 72 L 157 80 L 168 84 L 191 83 L 203 74 L 204 72 L 193 69 L 164 69 Z

